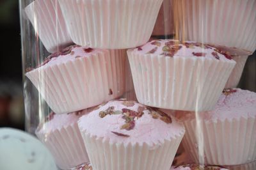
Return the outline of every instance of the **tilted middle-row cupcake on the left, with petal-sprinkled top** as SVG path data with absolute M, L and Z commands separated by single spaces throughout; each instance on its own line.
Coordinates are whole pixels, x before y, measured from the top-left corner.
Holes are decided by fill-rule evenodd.
M 125 60 L 125 50 L 73 45 L 28 69 L 26 77 L 56 114 L 74 112 L 123 95 Z

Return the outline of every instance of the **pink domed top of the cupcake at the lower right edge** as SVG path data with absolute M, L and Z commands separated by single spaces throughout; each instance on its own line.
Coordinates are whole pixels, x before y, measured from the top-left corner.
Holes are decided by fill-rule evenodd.
M 213 111 L 200 113 L 206 121 L 232 120 L 241 117 L 256 116 L 256 93 L 243 89 L 226 89 L 221 94 Z M 186 118 L 195 118 L 195 112 L 186 114 Z

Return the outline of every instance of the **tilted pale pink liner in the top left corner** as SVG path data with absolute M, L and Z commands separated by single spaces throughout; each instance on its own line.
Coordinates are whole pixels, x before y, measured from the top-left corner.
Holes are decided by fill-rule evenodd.
M 24 11 L 48 52 L 56 52 L 73 43 L 57 0 L 36 0 Z

